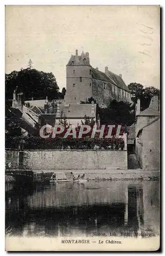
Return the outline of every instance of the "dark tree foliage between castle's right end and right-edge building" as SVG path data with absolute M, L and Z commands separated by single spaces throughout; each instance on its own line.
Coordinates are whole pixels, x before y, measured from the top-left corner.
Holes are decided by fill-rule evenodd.
M 154 88 L 153 86 L 144 88 L 142 84 L 132 82 L 128 85 L 128 88 L 131 91 L 131 99 L 134 103 L 137 103 L 137 99 L 140 99 L 142 111 L 149 107 L 151 98 L 153 96 L 158 96 L 158 98 L 160 97 L 160 90 Z

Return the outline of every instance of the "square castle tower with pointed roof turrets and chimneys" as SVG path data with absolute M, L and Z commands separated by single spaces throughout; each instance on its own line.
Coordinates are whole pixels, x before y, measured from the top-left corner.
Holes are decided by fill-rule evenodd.
M 80 103 L 92 97 L 92 69 L 89 63 L 89 53 L 82 52 L 72 55 L 66 65 L 66 95 L 65 103 Z

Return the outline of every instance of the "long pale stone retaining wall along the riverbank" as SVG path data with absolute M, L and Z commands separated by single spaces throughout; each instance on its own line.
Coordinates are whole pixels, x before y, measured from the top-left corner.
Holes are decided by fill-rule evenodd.
M 19 151 L 7 150 L 6 156 L 15 168 L 30 170 L 127 169 L 127 151 L 31 150 L 21 152 L 19 159 Z

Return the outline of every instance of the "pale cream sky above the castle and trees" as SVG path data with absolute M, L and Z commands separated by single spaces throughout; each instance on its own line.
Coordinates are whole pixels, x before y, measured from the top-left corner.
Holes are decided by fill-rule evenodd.
M 158 6 L 6 6 L 6 73 L 28 67 L 52 72 L 66 88 L 76 49 L 128 85 L 159 86 Z

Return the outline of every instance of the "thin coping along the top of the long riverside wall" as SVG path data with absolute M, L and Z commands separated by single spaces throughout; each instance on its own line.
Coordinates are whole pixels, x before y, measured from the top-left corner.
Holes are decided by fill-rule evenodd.
M 97 151 L 102 151 L 102 152 L 105 152 L 105 151 L 113 151 L 113 152 L 127 152 L 127 150 L 121 150 L 121 151 L 119 151 L 119 150 L 70 150 L 70 149 L 65 149 L 65 150 L 19 150 L 19 149 L 13 149 L 13 148 L 5 148 L 5 151 L 19 151 L 19 152 L 25 152 L 25 151 L 43 151 L 43 152 L 46 152 L 46 151 L 95 151 L 95 152 L 97 152 Z

